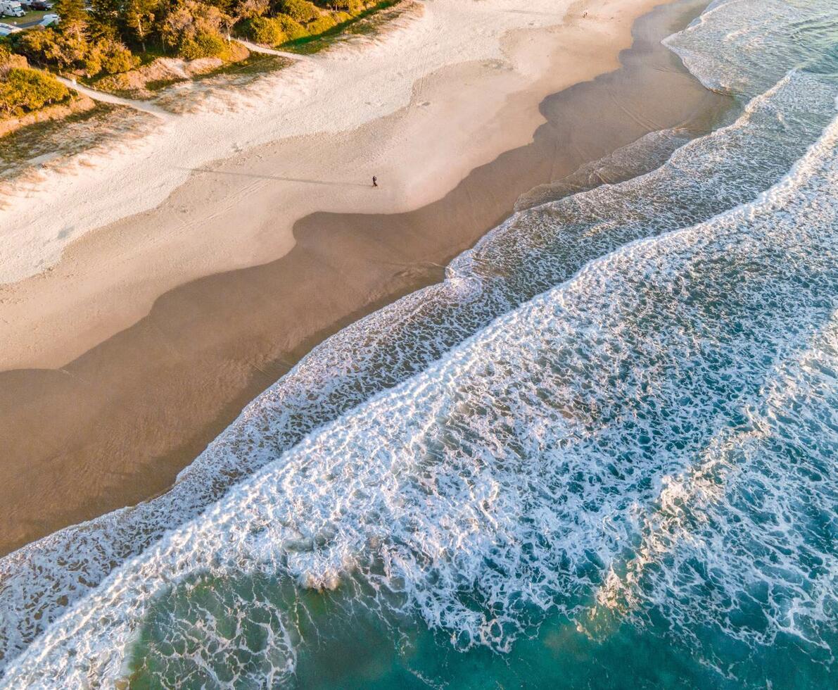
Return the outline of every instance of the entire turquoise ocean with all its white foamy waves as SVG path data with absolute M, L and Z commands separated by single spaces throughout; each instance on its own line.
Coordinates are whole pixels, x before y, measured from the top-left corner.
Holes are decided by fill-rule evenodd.
M 730 122 L 533 190 L 173 491 L 3 558 L 0 683 L 831 687 L 838 3 L 666 43 Z

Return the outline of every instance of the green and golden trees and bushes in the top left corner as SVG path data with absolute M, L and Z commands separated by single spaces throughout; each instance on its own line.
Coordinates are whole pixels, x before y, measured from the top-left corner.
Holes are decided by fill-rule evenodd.
M 50 72 L 105 91 L 147 97 L 154 86 L 245 63 L 249 51 L 235 37 L 272 48 L 310 42 L 339 34 L 357 18 L 393 4 L 90 0 L 85 7 L 85 0 L 57 0 L 58 23 L 36 25 L 0 39 L 0 118 L 67 99 L 70 91 Z M 171 59 L 180 62 L 173 64 Z

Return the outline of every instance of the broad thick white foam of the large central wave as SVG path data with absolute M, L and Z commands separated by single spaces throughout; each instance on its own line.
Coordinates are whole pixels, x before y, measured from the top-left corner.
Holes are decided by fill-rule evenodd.
M 308 435 L 113 573 L 13 661 L 4 682 L 114 682 L 149 605 L 207 572 L 223 578 L 213 583 L 222 597 L 246 573 L 317 588 L 351 587 L 354 573 L 371 585 L 355 594 L 370 610 L 419 615 L 461 648 L 508 650 L 544 615 L 577 615 L 642 537 L 647 516 L 677 498 L 670 478 L 701 466 L 720 431 L 741 426 L 784 362 L 804 356 L 830 324 L 836 143 L 833 122 L 757 201 L 587 264 Z M 270 455 L 249 445 L 267 441 L 269 429 L 248 434 L 228 433 L 225 444 Z M 824 480 L 834 493 L 835 473 Z M 835 554 L 822 556 L 834 572 Z M 759 565 L 717 558 L 723 568 Z M 816 635 L 822 591 L 796 592 L 796 627 L 782 616 L 766 625 Z M 269 605 L 235 593 L 237 616 Z M 694 608 L 677 609 L 686 618 L 674 622 L 694 625 Z M 190 615 L 207 640 L 219 639 L 217 614 Z M 260 664 L 272 659 L 282 680 L 294 622 L 285 610 L 272 615 L 276 637 Z M 179 634 L 169 626 L 165 645 Z M 241 679 L 246 669 L 220 645 L 200 663 Z

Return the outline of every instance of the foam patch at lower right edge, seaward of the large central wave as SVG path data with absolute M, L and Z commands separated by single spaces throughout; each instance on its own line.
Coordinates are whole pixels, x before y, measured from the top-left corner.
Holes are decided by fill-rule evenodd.
M 597 592 L 588 628 L 663 610 L 708 663 L 702 629 L 748 645 L 790 636 L 833 663 L 836 393 L 832 314 L 809 348 L 776 367 L 743 423 L 722 428 L 696 466 L 666 480 L 640 546 Z

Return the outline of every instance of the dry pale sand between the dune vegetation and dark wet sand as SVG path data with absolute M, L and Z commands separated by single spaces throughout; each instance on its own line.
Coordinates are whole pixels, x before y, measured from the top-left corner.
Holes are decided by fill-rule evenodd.
M 376 39 L 301 60 L 234 104 L 210 96 L 81 157 L 76 174 L 45 174 L 0 211 L 0 368 L 62 366 L 179 284 L 281 257 L 314 210 L 441 198 L 527 143 L 546 95 L 615 68 L 652 5 L 416 3 Z

